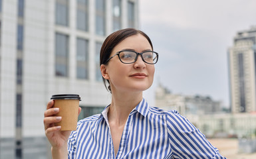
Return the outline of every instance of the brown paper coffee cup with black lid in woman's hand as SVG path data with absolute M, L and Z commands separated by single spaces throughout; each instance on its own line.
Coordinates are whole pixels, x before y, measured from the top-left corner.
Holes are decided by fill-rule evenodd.
M 56 116 L 62 117 L 61 122 L 55 123 L 55 126 L 61 126 L 61 131 L 76 131 L 78 120 L 78 109 L 80 97 L 76 94 L 53 95 L 53 107 L 59 108 Z

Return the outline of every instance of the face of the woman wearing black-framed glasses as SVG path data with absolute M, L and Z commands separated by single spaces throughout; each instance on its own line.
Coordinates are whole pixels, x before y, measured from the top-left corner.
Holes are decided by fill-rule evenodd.
M 143 52 L 152 50 L 152 47 L 144 36 L 136 34 L 129 36 L 116 45 L 110 57 L 121 50 Z M 152 85 L 154 72 L 154 64 L 146 64 L 141 56 L 138 56 L 136 62 L 132 64 L 123 64 L 116 55 L 107 65 L 104 65 L 102 76 L 110 81 L 112 93 L 116 90 L 144 91 Z

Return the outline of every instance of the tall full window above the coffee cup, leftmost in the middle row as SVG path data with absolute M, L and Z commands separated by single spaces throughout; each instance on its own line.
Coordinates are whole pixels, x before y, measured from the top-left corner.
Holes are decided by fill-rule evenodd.
M 68 76 L 68 36 L 60 33 L 55 36 L 55 75 Z

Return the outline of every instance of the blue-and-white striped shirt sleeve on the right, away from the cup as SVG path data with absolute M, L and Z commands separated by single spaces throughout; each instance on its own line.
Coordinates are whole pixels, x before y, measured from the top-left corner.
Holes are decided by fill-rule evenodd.
M 175 158 L 225 158 L 199 129 L 177 111 L 168 111 L 166 121 Z

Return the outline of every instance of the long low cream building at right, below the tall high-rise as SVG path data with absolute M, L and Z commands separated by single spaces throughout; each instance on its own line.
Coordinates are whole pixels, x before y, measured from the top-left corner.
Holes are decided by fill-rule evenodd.
M 207 137 L 256 137 L 255 113 L 200 115 L 195 125 Z

